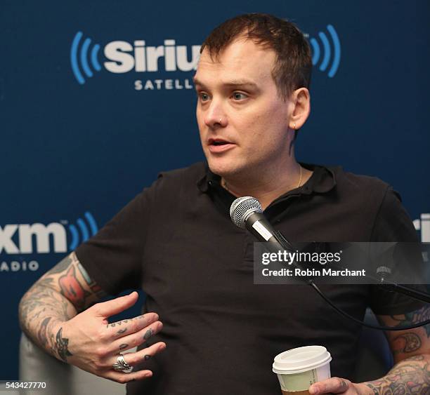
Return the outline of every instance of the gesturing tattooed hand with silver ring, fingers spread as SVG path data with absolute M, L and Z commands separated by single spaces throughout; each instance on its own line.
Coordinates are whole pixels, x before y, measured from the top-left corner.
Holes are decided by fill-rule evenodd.
M 138 293 L 133 292 L 94 304 L 69 321 L 58 323 L 53 333 L 55 336 L 53 352 L 65 362 L 116 382 L 125 383 L 151 377 L 150 370 L 123 373 L 112 368 L 121 352 L 146 342 L 162 329 L 163 325 L 157 321 L 158 315 L 155 313 L 108 323 L 108 317 L 133 306 L 137 299 Z M 139 352 L 127 353 L 124 359 L 130 366 L 134 366 L 165 348 L 165 343 L 158 342 Z

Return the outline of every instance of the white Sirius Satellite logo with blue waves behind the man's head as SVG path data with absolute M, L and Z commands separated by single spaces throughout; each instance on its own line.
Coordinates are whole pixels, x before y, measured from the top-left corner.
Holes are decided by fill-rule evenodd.
M 318 34 L 318 39 L 309 39 L 313 51 L 312 64 L 321 72 L 327 72 L 332 78 L 339 68 L 341 60 L 341 44 L 339 36 L 332 25 L 327 25 L 328 37 L 325 32 Z M 305 34 L 307 38 L 308 34 Z M 329 39 L 330 37 L 330 39 Z M 103 48 L 105 59 L 100 62 L 100 44 L 91 39 L 84 39 L 82 32 L 77 32 L 70 48 L 70 64 L 75 79 L 83 85 L 104 67 L 107 72 L 123 74 L 131 71 L 137 73 L 154 72 L 190 72 L 197 68 L 200 57 L 200 45 L 177 45 L 174 39 L 164 39 L 163 45 L 150 46 L 145 40 L 111 41 Z M 331 44 L 330 44 L 331 43 Z M 103 67 L 102 67 L 103 65 Z M 150 75 L 150 74 L 148 74 Z M 191 89 L 189 79 L 176 80 L 136 80 L 134 88 L 142 89 Z

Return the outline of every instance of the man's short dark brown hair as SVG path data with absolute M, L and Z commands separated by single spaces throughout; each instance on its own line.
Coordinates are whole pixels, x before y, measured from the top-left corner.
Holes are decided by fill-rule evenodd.
M 287 100 L 297 88 L 309 88 L 312 69 L 309 43 L 294 23 L 273 15 L 250 13 L 226 20 L 207 36 L 200 53 L 206 48 L 211 58 L 216 59 L 242 35 L 275 51 L 272 77 L 281 98 Z

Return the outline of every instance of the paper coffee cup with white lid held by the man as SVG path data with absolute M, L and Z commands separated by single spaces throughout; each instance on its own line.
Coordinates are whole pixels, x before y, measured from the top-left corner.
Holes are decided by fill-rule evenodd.
M 332 356 L 323 346 L 290 349 L 275 356 L 273 372 L 278 375 L 282 394 L 308 391 L 311 384 L 330 378 Z

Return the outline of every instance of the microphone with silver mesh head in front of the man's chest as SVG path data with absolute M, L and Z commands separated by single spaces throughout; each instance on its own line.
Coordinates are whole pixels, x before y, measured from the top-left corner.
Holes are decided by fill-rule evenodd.
M 273 252 L 290 251 L 294 248 L 280 232 L 273 229 L 263 214 L 260 202 L 252 196 L 237 198 L 230 206 L 230 217 L 237 227 L 247 229 L 256 239 L 267 243 Z

